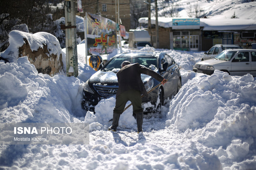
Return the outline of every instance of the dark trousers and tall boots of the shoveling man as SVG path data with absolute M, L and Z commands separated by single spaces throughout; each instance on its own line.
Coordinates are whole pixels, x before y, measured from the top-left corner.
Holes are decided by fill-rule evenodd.
M 142 123 L 143 123 L 143 108 L 141 107 L 141 95 L 139 90 L 127 90 L 121 93 L 120 95 L 116 96 L 116 106 L 113 111 L 113 122 L 112 127 L 116 128 L 118 126 L 120 114 L 123 113 L 126 103 L 130 100 L 133 112 L 138 116 L 137 126 L 138 130 L 142 130 Z

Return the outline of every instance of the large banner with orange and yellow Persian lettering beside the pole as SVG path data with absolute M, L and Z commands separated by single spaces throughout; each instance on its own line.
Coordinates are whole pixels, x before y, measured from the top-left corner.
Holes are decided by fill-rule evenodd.
M 87 50 L 89 55 L 109 54 L 117 48 L 116 22 L 86 13 Z

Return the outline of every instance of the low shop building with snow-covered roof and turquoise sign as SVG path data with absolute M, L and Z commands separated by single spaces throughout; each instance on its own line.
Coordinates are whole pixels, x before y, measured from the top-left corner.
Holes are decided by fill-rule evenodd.
M 256 43 L 256 21 L 251 19 L 159 18 L 159 48 L 207 51 L 215 44 L 251 48 Z M 140 18 L 147 23 L 147 18 Z M 154 24 L 151 18 L 151 24 Z M 153 25 L 154 27 L 154 25 Z M 155 30 L 152 44 L 155 46 Z

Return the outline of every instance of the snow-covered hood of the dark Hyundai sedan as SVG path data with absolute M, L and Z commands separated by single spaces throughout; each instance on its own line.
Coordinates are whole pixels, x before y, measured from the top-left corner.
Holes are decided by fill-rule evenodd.
M 150 79 L 150 76 L 141 74 L 142 82 L 145 82 Z M 101 85 L 118 85 L 116 73 L 112 71 L 97 71 L 89 79 L 90 83 Z

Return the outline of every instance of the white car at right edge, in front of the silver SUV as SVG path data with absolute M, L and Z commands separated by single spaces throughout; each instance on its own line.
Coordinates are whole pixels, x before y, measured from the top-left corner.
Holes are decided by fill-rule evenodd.
M 255 49 L 228 49 L 217 55 L 214 59 L 197 62 L 194 72 L 211 75 L 214 70 L 229 73 L 231 76 L 251 74 L 256 76 L 256 50 Z

